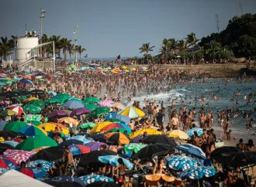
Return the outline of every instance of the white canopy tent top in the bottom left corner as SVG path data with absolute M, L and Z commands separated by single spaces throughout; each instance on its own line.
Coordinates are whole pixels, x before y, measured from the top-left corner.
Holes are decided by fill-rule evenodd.
M 40 182 L 36 179 L 24 175 L 21 172 L 17 172 L 12 169 L 4 174 L 0 175 L 1 187 L 27 187 L 27 186 L 36 186 L 36 187 L 50 187 L 52 185 L 47 185 L 46 183 Z

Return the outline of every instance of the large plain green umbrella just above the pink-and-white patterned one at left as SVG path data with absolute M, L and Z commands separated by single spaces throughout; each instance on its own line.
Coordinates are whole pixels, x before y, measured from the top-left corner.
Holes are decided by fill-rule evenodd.
M 24 151 L 32 151 L 36 148 L 54 146 L 57 146 L 57 142 L 52 138 L 47 136 L 33 136 L 26 138 L 26 140 L 22 141 L 19 145 L 16 146 L 16 148 Z

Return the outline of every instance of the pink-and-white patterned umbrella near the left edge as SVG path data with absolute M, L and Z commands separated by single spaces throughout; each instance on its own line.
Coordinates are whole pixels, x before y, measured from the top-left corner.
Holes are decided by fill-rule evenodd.
M 20 165 L 21 162 L 26 162 L 32 155 L 35 155 L 35 151 L 22 151 L 16 149 L 7 149 L 4 152 L 5 158 L 12 158 L 17 165 Z

